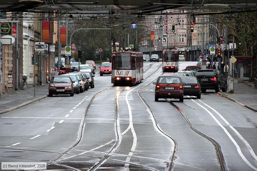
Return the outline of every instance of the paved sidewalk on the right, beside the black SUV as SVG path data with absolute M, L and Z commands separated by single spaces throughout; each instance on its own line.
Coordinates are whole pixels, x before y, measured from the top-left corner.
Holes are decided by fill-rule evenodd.
M 229 79 L 227 84 L 229 85 Z M 257 112 L 257 89 L 254 88 L 254 83 L 238 83 L 234 79 L 234 93 L 228 92 L 229 87 L 227 92 L 220 91 L 218 94 Z

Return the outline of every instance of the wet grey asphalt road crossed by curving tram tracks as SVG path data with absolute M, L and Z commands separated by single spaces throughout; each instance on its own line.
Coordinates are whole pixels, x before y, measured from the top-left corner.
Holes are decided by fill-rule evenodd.
M 194 132 L 165 99 L 154 101 L 152 82 L 162 74 L 160 64 L 145 62 L 144 70 L 150 67 L 144 73 L 145 79 L 133 87 L 112 87 L 111 76 L 99 76 L 98 70 L 93 89 L 73 97 L 47 97 L 2 114 L 0 161 L 52 161 L 78 142 L 82 129 L 79 143 L 49 164 L 48 169 L 88 170 L 110 152 L 97 170 L 166 170 L 169 166 L 172 170 L 220 170 L 213 144 Z M 180 69 L 186 65 L 192 63 L 182 62 Z M 111 88 L 103 91 L 108 87 Z M 151 112 L 138 95 L 140 89 L 158 127 L 175 142 L 154 124 Z M 95 96 L 100 91 L 103 92 Z M 196 129 L 220 145 L 226 170 L 256 170 L 256 113 L 212 90 L 202 93 L 199 100 L 192 96 L 184 96 L 183 103 L 170 100 Z

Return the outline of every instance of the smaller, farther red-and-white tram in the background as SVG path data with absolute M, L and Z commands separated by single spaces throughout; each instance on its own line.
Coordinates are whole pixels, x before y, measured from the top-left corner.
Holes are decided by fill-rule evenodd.
M 178 71 L 178 50 L 163 50 L 162 51 L 162 71 Z

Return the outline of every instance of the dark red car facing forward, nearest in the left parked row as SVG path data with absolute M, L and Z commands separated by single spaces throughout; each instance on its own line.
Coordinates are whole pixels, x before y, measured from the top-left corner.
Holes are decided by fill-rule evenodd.
M 72 81 L 69 76 L 54 76 L 49 82 L 49 97 L 52 97 L 53 95 L 58 94 L 69 94 L 71 96 L 74 95 L 74 86 L 73 83 L 75 81 Z

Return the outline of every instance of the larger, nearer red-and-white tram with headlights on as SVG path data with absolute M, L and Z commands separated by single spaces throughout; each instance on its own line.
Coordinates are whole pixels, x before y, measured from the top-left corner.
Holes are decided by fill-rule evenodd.
M 112 53 L 112 78 L 114 85 L 137 84 L 143 80 L 143 53 L 122 50 Z

